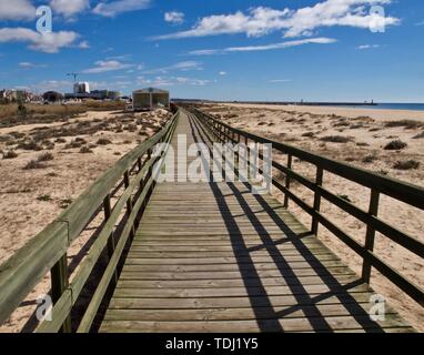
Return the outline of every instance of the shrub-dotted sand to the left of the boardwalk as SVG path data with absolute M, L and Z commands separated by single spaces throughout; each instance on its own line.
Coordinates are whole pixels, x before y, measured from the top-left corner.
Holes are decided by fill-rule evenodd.
M 159 131 L 170 116 L 164 110 L 89 111 L 60 122 L 3 124 L 0 128 L 0 158 L 3 158 L 0 161 L 0 264 L 119 159 Z M 69 263 L 88 237 L 89 233 L 74 242 L 68 254 Z M 47 293 L 49 286 L 47 275 L 0 327 L 0 333 L 20 332 L 34 310 L 34 300 Z

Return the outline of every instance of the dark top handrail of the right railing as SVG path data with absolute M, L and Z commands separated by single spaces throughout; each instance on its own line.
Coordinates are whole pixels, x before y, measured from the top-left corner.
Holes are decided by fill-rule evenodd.
M 240 129 L 235 129 L 221 120 L 218 120 L 213 115 L 205 113 L 203 111 L 194 109 L 198 113 L 206 115 L 210 120 L 219 122 L 226 129 L 231 130 L 236 134 L 246 136 L 248 139 L 255 141 L 258 143 L 270 143 L 273 149 L 276 149 L 285 154 L 293 155 L 301 159 L 302 161 L 312 163 L 314 165 L 322 166 L 326 171 L 356 182 L 366 187 L 376 189 L 378 192 L 394 197 L 398 201 L 405 202 L 406 204 L 413 205 L 415 207 L 424 210 L 424 187 L 407 182 L 403 182 L 390 176 L 383 176 L 376 174 L 370 170 L 354 166 L 341 161 L 336 161 L 330 158 L 325 158 L 306 150 L 281 143 L 271 139 L 266 139 Z

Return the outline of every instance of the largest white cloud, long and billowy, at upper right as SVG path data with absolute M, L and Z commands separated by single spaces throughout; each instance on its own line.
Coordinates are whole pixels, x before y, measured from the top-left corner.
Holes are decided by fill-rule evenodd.
M 181 39 L 218 34 L 245 33 L 260 37 L 274 31 L 282 31 L 284 37 L 312 36 L 322 27 L 344 26 L 371 28 L 372 26 L 394 26 L 400 20 L 384 14 L 370 14 L 365 6 L 387 4 L 391 0 L 325 0 L 313 7 L 297 10 L 252 8 L 244 13 L 214 14 L 202 18 L 191 30 L 180 31 L 155 39 Z

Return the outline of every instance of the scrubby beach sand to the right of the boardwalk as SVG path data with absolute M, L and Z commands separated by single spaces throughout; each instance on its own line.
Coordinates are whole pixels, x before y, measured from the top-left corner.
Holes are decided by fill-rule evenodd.
M 375 173 L 423 185 L 424 112 L 229 103 L 205 104 L 201 108 L 235 128 Z M 273 159 L 286 164 L 285 155 L 274 155 Z M 309 163 L 295 159 L 293 169 L 312 181 L 315 179 L 315 168 Z M 284 179 L 275 171 L 274 174 L 276 179 Z M 364 211 L 369 209 L 369 189 L 331 173 L 324 173 L 324 187 L 347 199 Z M 313 194 L 306 187 L 293 182 L 292 190 L 307 204 L 313 204 Z M 273 193 L 283 201 L 282 193 L 275 189 Z M 290 204 L 290 210 L 302 223 L 311 225 L 311 217 L 293 202 Z M 349 235 L 364 243 L 366 229 L 363 223 L 325 200 L 321 211 Z M 424 241 L 424 211 L 383 195 L 378 217 Z M 320 226 L 319 237 L 353 271 L 361 274 L 361 257 L 322 226 Z M 424 286 L 424 262 L 421 257 L 378 233 L 375 252 L 408 280 Z M 377 293 L 384 295 L 413 326 L 424 332 L 422 306 L 405 296 L 375 271 L 371 285 Z

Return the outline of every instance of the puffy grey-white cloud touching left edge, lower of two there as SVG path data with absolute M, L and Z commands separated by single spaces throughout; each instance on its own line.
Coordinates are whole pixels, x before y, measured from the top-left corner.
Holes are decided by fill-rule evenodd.
M 57 53 L 62 48 L 71 47 L 78 38 L 79 34 L 72 31 L 41 34 L 26 28 L 0 29 L 0 43 L 29 42 L 30 49 L 46 53 Z

